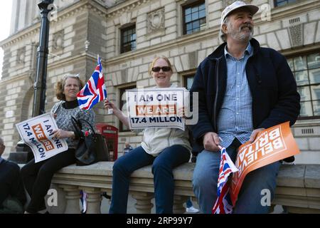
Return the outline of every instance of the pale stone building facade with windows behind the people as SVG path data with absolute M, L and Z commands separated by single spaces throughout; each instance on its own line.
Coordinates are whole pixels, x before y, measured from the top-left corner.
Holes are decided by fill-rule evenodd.
M 11 35 L 0 46 L 4 66 L 0 81 L 0 135 L 6 154 L 19 140 L 15 124 L 31 117 L 36 48 L 40 18 L 36 0 L 14 0 Z M 167 56 L 174 65 L 172 81 L 191 86 L 196 68 L 220 45 L 220 15 L 233 1 L 217 0 L 59 0 L 50 21 L 46 110 L 57 101 L 55 83 L 65 73 L 86 81 L 102 57 L 108 98 L 124 105 L 127 88 L 151 87 L 149 63 Z M 297 163 L 320 164 L 320 1 L 252 0 L 261 46 L 283 53 L 302 95 L 302 113 L 292 127 L 301 154 Z M 118 150 L 124 142 L 138 146 L 132 133 L 96 105 L 97 123 L 119 128 Z

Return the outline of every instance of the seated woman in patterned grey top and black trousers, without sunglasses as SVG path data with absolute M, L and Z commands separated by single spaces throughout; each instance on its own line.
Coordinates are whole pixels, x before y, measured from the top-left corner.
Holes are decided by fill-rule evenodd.
M 46 209 L 44 197 L 50 188 L 54 173 L 63 167 L 75 163 L 75 148 L 78 146 L 80 135 L 76 134 L 71 117 L 74 117 L 76 120 L 82 118 L 87 120 L 92 126 L 95 125 L 95 113 L 93 110 L 82 110 L 78 107 L 77 93 L 83 85 L 78 75 L 66 75 L 57 83 L 56 97 L 60 101 L 53 105 L 51 113 L 54 113 L 59 129 L 55 130 L 53 136 L 65 138 L 68 150 L 41 162 L 35 163 L 33 159 L 22 167 L 21 177 L 23 184 L 31 197 L 31 201 L 26 208 L 26 213 L 37 213 Z M 83 121 L 81 124 L 82 129 L 89 128 Z

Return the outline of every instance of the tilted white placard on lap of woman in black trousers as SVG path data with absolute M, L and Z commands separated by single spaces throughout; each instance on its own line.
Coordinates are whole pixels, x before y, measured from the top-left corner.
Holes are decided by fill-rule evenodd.
M 52 113 L 45 113 L 17 123 L 16 128 L 23 142 L 31 147 L 35 162 L 46 160 L 68 150 L 65 139 L 53 138 L 53 130 L 57 130 L 58 126 Z

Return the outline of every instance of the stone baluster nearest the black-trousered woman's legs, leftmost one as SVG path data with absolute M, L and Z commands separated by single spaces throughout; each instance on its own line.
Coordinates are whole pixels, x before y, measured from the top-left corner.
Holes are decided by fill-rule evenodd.
M 65 214 L 80 214 L 80 190 L 75 185 L 59 185 L 65 191 Z

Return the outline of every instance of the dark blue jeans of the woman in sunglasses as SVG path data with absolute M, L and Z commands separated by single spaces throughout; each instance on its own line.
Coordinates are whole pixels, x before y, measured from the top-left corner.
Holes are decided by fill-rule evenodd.
M 190 152 L 182 145 L 164 149 L 157 157 L 149 155 L 140 146 L 119 157 L 113 165 L 110 214 L 127 213 L 130 175 L 134 170 L 152 164 L 154 197 L 157 214 L 172 214 L 174 207 L 174 167 L 188 162 Z

